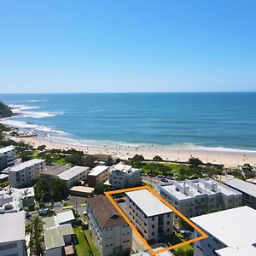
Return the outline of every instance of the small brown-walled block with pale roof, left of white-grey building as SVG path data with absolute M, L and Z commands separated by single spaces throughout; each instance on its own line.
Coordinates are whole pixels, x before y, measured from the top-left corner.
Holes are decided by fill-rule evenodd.
M 109 166 L 96 166 L 88 174 L 88 186 L 95 188 L 98 184 L 103 184 L 109 178 Z

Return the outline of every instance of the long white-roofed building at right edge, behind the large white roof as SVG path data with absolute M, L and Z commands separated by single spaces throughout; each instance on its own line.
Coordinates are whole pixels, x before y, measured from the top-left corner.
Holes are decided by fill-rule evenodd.
M 227 186 L 232 189 L 236 189 L 242 194 L 243 204 L 248 207 L 256 209 L 256 185 L 253 183 L 247 183 L 238 178 L 232 178 L 225 182 Z

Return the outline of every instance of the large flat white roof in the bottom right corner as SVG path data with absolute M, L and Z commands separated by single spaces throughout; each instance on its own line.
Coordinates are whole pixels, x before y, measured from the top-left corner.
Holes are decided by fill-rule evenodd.
M 236 248 L 240 252 L 239 255 L 252 255 L 249 252 L 253 243 L 256 243 L 255 219 L 256 210 L 251 207 L 237 207 L 191 218 L 195 224 L 218 241 L 223 242 L 227 247 Z M 246 248 L 247 253 L 241 253 Z

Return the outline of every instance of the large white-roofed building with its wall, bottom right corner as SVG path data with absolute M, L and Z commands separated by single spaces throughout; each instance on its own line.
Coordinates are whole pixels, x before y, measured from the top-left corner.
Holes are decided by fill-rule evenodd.
M 255 219 L 256 210 L 247 206 L 191 218 L 209 236 L 195 242 L 194 256 L 256 255 Z

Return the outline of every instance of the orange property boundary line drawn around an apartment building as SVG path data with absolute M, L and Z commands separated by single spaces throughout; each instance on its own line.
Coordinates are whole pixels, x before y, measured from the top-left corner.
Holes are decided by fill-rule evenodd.
M 199 237 L 195 237 L 193 239 L 190 239 L 189 241 L 183 241 L 180 242 L 172 247 L 166 247 L 163 249 L 160 249 L 158 251 L 154 251 L 149 245 L 148 242 L 143 238 L 143 236 L 138 232 L 136 226 L 131 223 L 131 220 L 125 215 L 125 212 L 118 206 L 118 204 L 113 200 L 113 197 L 111 195 L 114 194 L 119 194 L 119 193 L 124 193 L 124 192 L 129 192 L 129 191 L 135 191 L 135 190 L 141 190 L 141 189 L 148 189 L 149 192 L 151 192 L 153 195 L 155 195 L 160 201 L 162 201 L 167 207 L 171 208 L 173 212 L 175 212 L 180 218 L 183 218 L 185 222 L 190 224 L 197 232 L 201 234 Z M 135 187 L 131 189 L 118 189 L 118 190 L 113 190 L 113 191 L 108 191 L 105 192 L 105 195 L 108 197 L 108 200 L 113 204 L 113 207 L 115 207 L 118 212 L 121 214 L 123 218 L 125 218 L 125 221 L 127 224 L 130 225 L 131 229 L 137 234 L 137 236 L 143 241 L 143 244 L 148 248 L 149 252 L 152 253 L 153 255 L 156 255 L 158 253 L 164 253 L 166 251 L 170 251 L 172 249 L 176 249 L 177 247 L 182 247 L 184 245 L 187 245 L 189 243 L 195 242 L 195 241 L 200 241 L 202 239 L 207 238 L 207 234 L 203 232 L 199 227 L 197 227 L 194 223 L 192 223 L 189 218 L 185 217 L 181 212 L 177 211 L 175 207 L 172 207 L 171 204 L 169 204 L 165 199 L 163 199 L 160 195 L 158 195 L 153 189 L 149 188 L 148 186 L 141 186 L 141 187 Z

